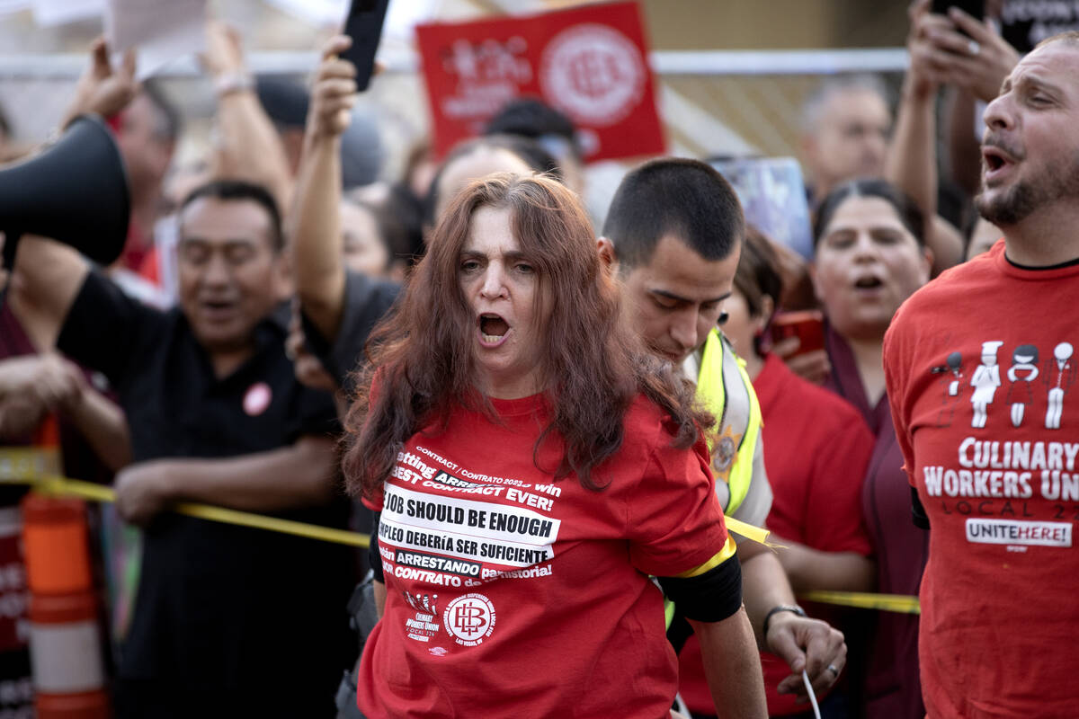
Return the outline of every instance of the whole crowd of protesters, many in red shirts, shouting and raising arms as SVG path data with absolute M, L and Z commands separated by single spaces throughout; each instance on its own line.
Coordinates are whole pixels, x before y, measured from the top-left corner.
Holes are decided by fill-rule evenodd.
M 115 716 L 1075 716 L 1079 33 L 910 18 L 894 108 L 805 102 L 808 262 L 693 158 L 589 217 L 534 98 L 375 181 L 346 37 L 304 91 L 211 22 L 217 141 L 177 167 L 182 112 L 96 42 L 62 130 L 109 122 L 129 231 L 109 266 L 5 238 L 0 444 L 58 437 L 141 528 Z

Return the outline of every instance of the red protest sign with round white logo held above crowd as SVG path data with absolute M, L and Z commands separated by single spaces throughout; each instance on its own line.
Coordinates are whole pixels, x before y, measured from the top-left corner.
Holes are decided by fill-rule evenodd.
M 637 3 L 416 26 L 435 150 L 538 96 L 577 125 L 587 161 L 664 152 Z

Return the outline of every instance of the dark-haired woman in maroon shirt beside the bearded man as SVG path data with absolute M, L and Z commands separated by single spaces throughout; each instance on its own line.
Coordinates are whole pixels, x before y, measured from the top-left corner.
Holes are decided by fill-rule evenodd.
M 900 304 L 929 280 L 921 212 L 884 180 L 856 180 L 821 203 L 814 227 L 814 288 L 828 318 L 825 386 L 855 405 L 876 437 L 862 511 L 877 591 L 916 595 L 928 535 L 911 514 L 911 487 L 885 395 L 884 333 Z M 921 719 L 918 618 L 878 612 L 864 690 L 870 719 Z

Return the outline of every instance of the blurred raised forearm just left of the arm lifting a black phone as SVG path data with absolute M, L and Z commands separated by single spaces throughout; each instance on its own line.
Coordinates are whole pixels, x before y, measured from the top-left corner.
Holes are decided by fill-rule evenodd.
M 288 158 L 277 129 L 254 91 L 237 89 L 220 96 L 217 133 L 214 176 L 265 186 L 284 212 L 292 191 Z

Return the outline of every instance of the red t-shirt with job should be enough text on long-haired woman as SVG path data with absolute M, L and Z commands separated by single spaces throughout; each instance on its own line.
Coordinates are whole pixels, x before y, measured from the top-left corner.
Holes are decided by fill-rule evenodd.
M 677 664 L 648 575 L 697 567 L 726 543 L 704 442 L 670 446 L 638 399 L 591 492 L 552 482 L 533 448 L 537 398 L 457 409 L 415 434 L 372 509 L 385 614 L 357 700 L 382 717 L 667 717 Z M 546 447 L 538 466 L 554 468 Z

